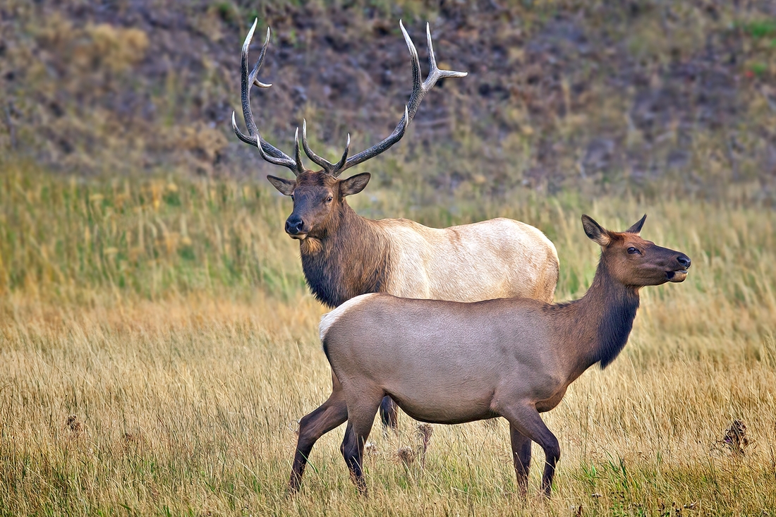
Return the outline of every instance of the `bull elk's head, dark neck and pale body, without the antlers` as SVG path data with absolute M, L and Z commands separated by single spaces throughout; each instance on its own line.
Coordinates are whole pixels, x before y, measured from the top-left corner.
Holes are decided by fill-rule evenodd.
M 286 231 L 301 241 L 310 290 L 330 307 L 378 292 L 456 301 L 553 300 L 558 254 L 528 224 L 497 218 L 431 228 L 407 219 L 365 219 L 346 196 L 363 189 L 369 173 L 339 180 L 303 172 L 293 182 L 271 180 L 294 198 Z

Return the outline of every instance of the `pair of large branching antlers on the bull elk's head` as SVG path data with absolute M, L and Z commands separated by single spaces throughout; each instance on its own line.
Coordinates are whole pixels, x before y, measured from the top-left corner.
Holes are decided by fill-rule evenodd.
M 415 116 L 415 113 L 417 113 L 417 108 L 421 106 L 423 97 L 426 95 L 426 93 L 428 93 L 429 90 L 431 90 L 431 88 L 434 88 L 434 85 L 439 79 L 445 77 L 466 77 L 467 75 L 466 72 L 440 70 L 437 67 L 434 46 L 433 43 L 431 43 L 431 29 L 429 28 L 428 23 L 426 23 L 426 42 L 428 44 L 429 70 L 428 77 L 426 77 L 425 81 L 421 82 L 421 64 L 420 58 L 417 57 L 417 49 L 415 48 L 414 43 L 412 43 L 407 30 L 404 29 L 404 24 L 401 23 L 401 21 L 399 21 L 399 26 L 401 28 L 401 33 L 404 34 L 404 41 L 407 43 L 407 48 L 410 50 L 413 84 L 410 101 L 404 106 L 404 115 L 399 120 L 399 123 L 397 124 L 396 129 L 393 130 L 393 133 L 388 135 L 385 140 L 373 145 L 372 147 L 369 147 L 369 149 L 365 151 L 361 151 L 359 154 L 355 154 L 350 158 L 348 158 L 348 149 L 350 147 L 350 134 L 348 134 L 348 141 L 345 144 L 345 151 L 342 153 L 342 158 L 340 158 L 340 161 L 337 163 L 331 163 L 331 161 L 327 161 L 325 158 L 321 158 L 315 154 L 312 149 L 310 149 L 310 145 L 307 144 L 307 120 L 303 121 L 302 147 L 304 148 L 305 154 L 307 154 L 310 160 L 314 161 L 318 166 L 323 168 L 324 172 L 334 176 L 334 178 L 337 178 L 339 175 L 341 175 L 345 169 L 351 168 L 354 165 L 359 165 L 359 163 L 367 161 L 369 158 L 374 158 L 383 151 L 386 151 L 393 144 L 396 144 L 398 141 L 400 141 L 401 137 L 404 137 L 404 132 L 407 131 L 407 126 Z M 262 158 L 264 158 L 266 161 L 269 161 L 275 165 L 283 165 L 288 167 L 294 172 L 294 174 L 299 175 L 300 172 L 304 170 L 299 149 L 299 128 L 296 128 L 296 135 L 294 137 L 296 151 L 296 161 L 294 161 L 279 149 L 272 147 L 272 145 L 263 141 L 261 135 L 258 134 L 256 123 L 253 120 L 251 104 L 248 99 L 248 90 L 251 88 L 251 85 L 254 84 L 259 88 L 268 88 L 270 86 L 264 85 L 261 82 L 258 82 L 256 79 L 256 75 L 258 75 L 258 68 L 262 66 L 265 50 L 267 48 L 267 44 L 269 43 L 269 29 L 267 29 L 267 40 L 264 43 L 264 47 L 262 47 L 262 54 L 260 54 L 258 57 L 258 63 L 256 63 L 256 66 L 254 67 L 253 71 L 251 71 L 251 74 L 248 75 L 248 45 L 251 43 L 251 37 L 253 36 L 255 27 L 256 22 L 253 23 L 253 26 L 248 33 L 248 37 L 245 38 L 245 43 L 243 44 L 242 50 L 243 116 L 245 117 L 245 124 L 248 126 L 248 132 L 251 136 L 246 137 L 240 132 L 240 130 L 237 129 L 237 123 L 234 120 L 234 113 L 232 113 L 232 126 L 234 127 L 234 132 L 237 134 L 237 137 L 239 137 L 241 141 L 244 141 L 247 144 L 255 145 L 258 147 L 259 152 L 262 154 Z

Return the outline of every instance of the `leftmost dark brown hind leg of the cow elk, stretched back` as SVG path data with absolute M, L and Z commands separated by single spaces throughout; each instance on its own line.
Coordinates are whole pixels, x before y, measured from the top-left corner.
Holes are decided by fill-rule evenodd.
M 348 419 L 348 404 L 345 403 L 345 395 L 334 373 L 331 374 L 331 384 L 331 395 L 327 401 L 299 422 L 299 439 L 296 442 L 296 453 L 289 480 L 291 493 L 299 490 L 304 467 L 307 467 L 307 457 L 310 456 L 315 442 Z

